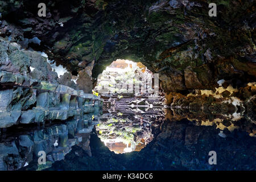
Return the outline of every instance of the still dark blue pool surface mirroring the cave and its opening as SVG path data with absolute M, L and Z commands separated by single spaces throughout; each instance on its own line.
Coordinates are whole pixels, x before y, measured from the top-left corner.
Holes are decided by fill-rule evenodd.
M 117 104 L 118 99 L 115 98 L 115 100 Z M 136 102 L 146 103 L 145 100 L 143 102 L 140 101 L 141 100 L 138 100 Z M 123 102 L 126 102 L 125 99 L 122 100 L 122 103 Z M 153 102 L 156 103 L 156 101 L 152 100 L 147 102 L 149 104 Z M 127 98 L 127 103 L 130 103 L 130 98 Z M 134 105 L 136 104 L 135 102 L 131 102 L 128 104 L 129 108 L 132 103 L 134 103 Z M 224 129 L 222 131 L 218 125 L 224 125 L 226 127 L 230 125 L 225 123 L 225 119 L 221 121 L 221 114 L 216 115 L 213 120 L 210 119 L 210 125 L 205 125 L 204 117 L 209 119 L 209 115 L 205 113 L 201 115 L 178 115 L 178 110 L 176 110 L 176 114 L 174 115 L 172 111 L 175 111 L 175 109 L 171 110 L 170 108 L 166 109 L 164 106 L 156 106 L 157 107 L 153 106 L 148 109 L 148 113 L 145 111 L 148 107 L 144 107 L 144 109 L 141 107 L 140 110 L 143 112 L 134 110 L 133 113 L 129 113 L 128 110 L 130 109 L 127 108 L 127 110 L 122 110 L 122 114 L 120 114 L 120 107 L 116 107 L 116 111 L 118 112 L 112 111 L 112 113 L 109 113 L 111 107 L 108 109 L 105 108 L 104 114 L 102 114 L 100 118 L 94 116 L 94 121 L 92 120 L 92 114 L 87 114 L 85 115 L 84 121 L 72 120 L 55 125 L 48 123 L 45 126 L 39 127 L 28 127 L 27 125 L 26 127 L 11 127 L 1 133 L 1 170 L 15 170 L 22 167 L 42 170 L 52 165 L 54 166 L 56 163 L 58 164 L 54 166 L 53 169 L 92 169 L 91 167 L 88 168 L 89 164 L 86 166 L 86 163 L 92 162 L 94 159 L 97 159 L 94 162 L 95 164 L 90 165 L 94 165 L 95 167 L 98 167 L 101 161 L 108 159 L 114 160 L 113 165 L 115 166 L 122 163 L 122 160 L 127 160 L 129 161 L 126 163 L 128 166 L 125 167 L 128 169 L 136 169 L 135 167 L 139 165 L 144 167 L 141 169 L 183 169 L 181 167 L 184 166 L 186 167 L 184 169 L 212 169 L 214 167 L 207 166 L 207 161 L 204 161 L 208 156 L 207 152 L 210 150 L 218 151 L 218 155 L 223 156 L 227 161 L 219 161 L 223 163 L 222 166 L 218 166 L 222 169 L 232 169 L 230 168 L 232 166 L 237 169 L 253 169 L 255 162 L 249 160 L 249 156 L 250 158 L 255 158 L 255 156 L 253 156 L 255 153 L 255 139 L 245 135 L 242 131 L 247 131 L 247 133 L 248 131 L 255 131 L 254 123 L 242 118 L 236 122 L 233 121 L 233 125 L 236 126 L 235 130 L 229 131 L 228 129 Z M 134 108 L 137 107 L 139 106 Z M 166 115 L 163 113 L 164 111 L 166 111 Z M 169 113 L 169 117 L 172 115 L 172 118 L 163 121 L 164 117 L 168 116 L 167 113 Z M 189 118 L 190 121 L 183 118 Z M 131 151 L 140 152 L 138 155 L 132 153 L 131 155 L 133 155 L 133 157 L 131 158 L 126 158 L 124 155 L 121 155 L 121 158 L 117 158 L 115 154 L 111 154 L 110 156 L 108 151 L 101 149 L 102 147 L 92 149 L 92 143 L 90 142 L 95 142 L 90 138 L 93 125 L 96 126 L 98 137 L 101 138 L 110 151 L 114 151 L 116 154 Z M 152 142 L 152 144 L 147 145 L 150 142 Z M 75 146 L 79 146 L 82 151 L 74 150 L 73 152 L 75 152 L 75 154 L 71 154 L 72 147 Z M 77 149 L 77 147 L 75 148 Z M 143 151 L 141 151 L 142 148 L 144 148 Z M 177 148 L 179 148 L 179 150 Z M 39 165 L 37 162 L 37 154 L 38 151 L 41 150 L 46 151 L 46 165 Z M 150 151 L 156 152 L 157 155 L 152 155 Z M 66 156 L 69 154 L 77 156 L 77 159 L 73 159 L 73 156 L 72 158 L 66 159 Z M 144 161 L 143 156 L 148 155 L 151 156 L 150 158 L 152 158 L 152 160 Z M 134 157 L 136 157 L 136 160 L 133 160 Z M 168 160 L 165 159 L 165 157 L 168 158 Z M 202 157 L 204 157 L 204 159 L 201 159 Z M 66 161 L 65 164 L 64 162 L 59 162 L 64 158 Z M 247 162 L 245 162 L 245 159 Z M 80 160 L 84 160 L 84 162 L 80 164 L 76 163 L 76 160 L 79 160 L 79 162 Z M 241 160 L 243 161 L 242 163 Z M 190 163 L 190 161 L 192 161 L 192 163 Z M 67 165 L 67 162 L 69 165 Z M 144 162 L 148 167 L 142 165 Z M 105 166 L 107 164 L 108 163 L 102 163 L 102 165 Z M 123 169 L 121 167 L 122 166 L 118 166 L 116 169 Z

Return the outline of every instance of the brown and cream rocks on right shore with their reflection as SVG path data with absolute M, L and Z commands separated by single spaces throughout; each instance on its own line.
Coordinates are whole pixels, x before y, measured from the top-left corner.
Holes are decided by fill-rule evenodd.
M 174 96 L 171 108 L 166 110 L 170 121 L 188 119 L 197 126 L 214 126 L 221 137 L 234 130 L 246 131 L 256 137 L 256 97 L 241 101 L 237 97 L 216 98 L 205 96 Z

